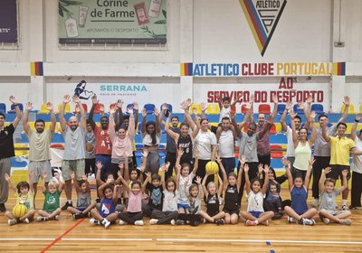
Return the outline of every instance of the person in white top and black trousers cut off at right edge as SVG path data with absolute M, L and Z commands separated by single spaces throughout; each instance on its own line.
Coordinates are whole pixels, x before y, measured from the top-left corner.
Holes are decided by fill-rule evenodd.
M 357 136 L 357 125 L 361 120 L 361 115 L 356 115 L 355 123 L 352 126 L 351 139 L 355 141 L 357 151 L 362 151 L 362 130 L 359 130 Z M 349 209 L 361 208 L 361 193 L 362 193 L 362 156 L 353 155 L 351 164 L 352 171 L 352 190 L 351 190 L 351 205 Z

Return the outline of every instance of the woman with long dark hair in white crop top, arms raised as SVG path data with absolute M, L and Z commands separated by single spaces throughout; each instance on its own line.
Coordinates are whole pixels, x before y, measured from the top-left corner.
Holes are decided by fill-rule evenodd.
M 156 117 L 155 121 L 148 121 L 146 123 L 147 111 L 145 108 L 142 109 L 141 134 L 143 139 L 143 150 L 148 151 L 145 173 L 151 172 L 152 174 L 157 174 L 160 164 L 158 146 L 161 139 L 161 127 L 159 127 L 157 108 L 155 108 L 153 115 Z

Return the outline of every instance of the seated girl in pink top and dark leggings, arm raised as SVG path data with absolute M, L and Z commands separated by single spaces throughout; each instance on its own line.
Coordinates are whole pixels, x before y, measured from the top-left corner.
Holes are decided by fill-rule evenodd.
M 143 212 L 142 212 L 142 185 L 139 181 L 134 181 L 129 184 L 124 180 L 122 176 L 119 176 L 120 181 L 123 184 L 123 187 L 129 193 L 129 205 L 127 207 L 127 212 L 119 212 L 119 225 L 138 225 L 143 226 Z

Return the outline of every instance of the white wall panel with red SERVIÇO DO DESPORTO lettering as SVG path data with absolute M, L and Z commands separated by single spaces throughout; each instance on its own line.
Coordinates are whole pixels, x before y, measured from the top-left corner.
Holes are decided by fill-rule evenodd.
M 311 96 L 314 103 L 323 105 L 323 108 L 329 108 L 329 83 L 300 83 L 295 82 L 291 77 L 281 78 L 279 83 L 195 83 L 194 98 L 195 103 L 207 102 L 217 103 L 217 98 L 229 97 L 232 102 L 240 97 L 240 104 L 237 104 L 237 112 L 243 104 L 250 101 L 254 96 L 255 104 L 270 104 L 271 98 L 275 96 L 279 103 L 288 101 L 304 102 Z M 258 107 L 254 107 L 257 111 Z

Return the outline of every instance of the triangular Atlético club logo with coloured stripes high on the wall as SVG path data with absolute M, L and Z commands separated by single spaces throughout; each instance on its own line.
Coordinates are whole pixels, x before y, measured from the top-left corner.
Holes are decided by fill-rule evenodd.
M 239 0 L 262 56 L 287 5 L 287 0 Z

